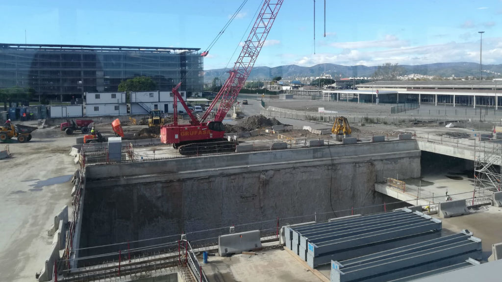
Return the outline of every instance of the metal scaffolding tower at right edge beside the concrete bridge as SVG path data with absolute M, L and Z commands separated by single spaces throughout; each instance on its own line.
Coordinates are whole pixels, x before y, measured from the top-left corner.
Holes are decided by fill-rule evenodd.
M 483 136 L 480 139 L 474 145 L 474 193 L 490 196 L 491 192 L 500 191 L 502 140 Z

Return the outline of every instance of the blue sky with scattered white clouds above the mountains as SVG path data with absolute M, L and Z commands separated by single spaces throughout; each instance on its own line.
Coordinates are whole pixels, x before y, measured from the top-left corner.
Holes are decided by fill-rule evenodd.
M 204 59 L 232 67 L 260 0 L 248 0 Z M 502 64 L 502 0 L 285 0 L 255 66 L 321 63 L 376 66 L 440 62 Z M 205 49 L 240 0 L 0 2 L 0 42 L 131 45 Z M 237 51 L 234 53 L 234 51 Z M 232 56 L 233 54 L 233 56 Z M 228 63 L 230 62 L 230 63 Z

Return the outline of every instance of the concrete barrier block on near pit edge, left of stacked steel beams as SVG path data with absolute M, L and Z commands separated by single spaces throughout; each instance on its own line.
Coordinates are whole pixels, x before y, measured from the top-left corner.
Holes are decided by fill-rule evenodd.
M 227 234 L 218 237 L 218 252 L 220 256 L 241 253 L 261 247 L 260 230 Z

